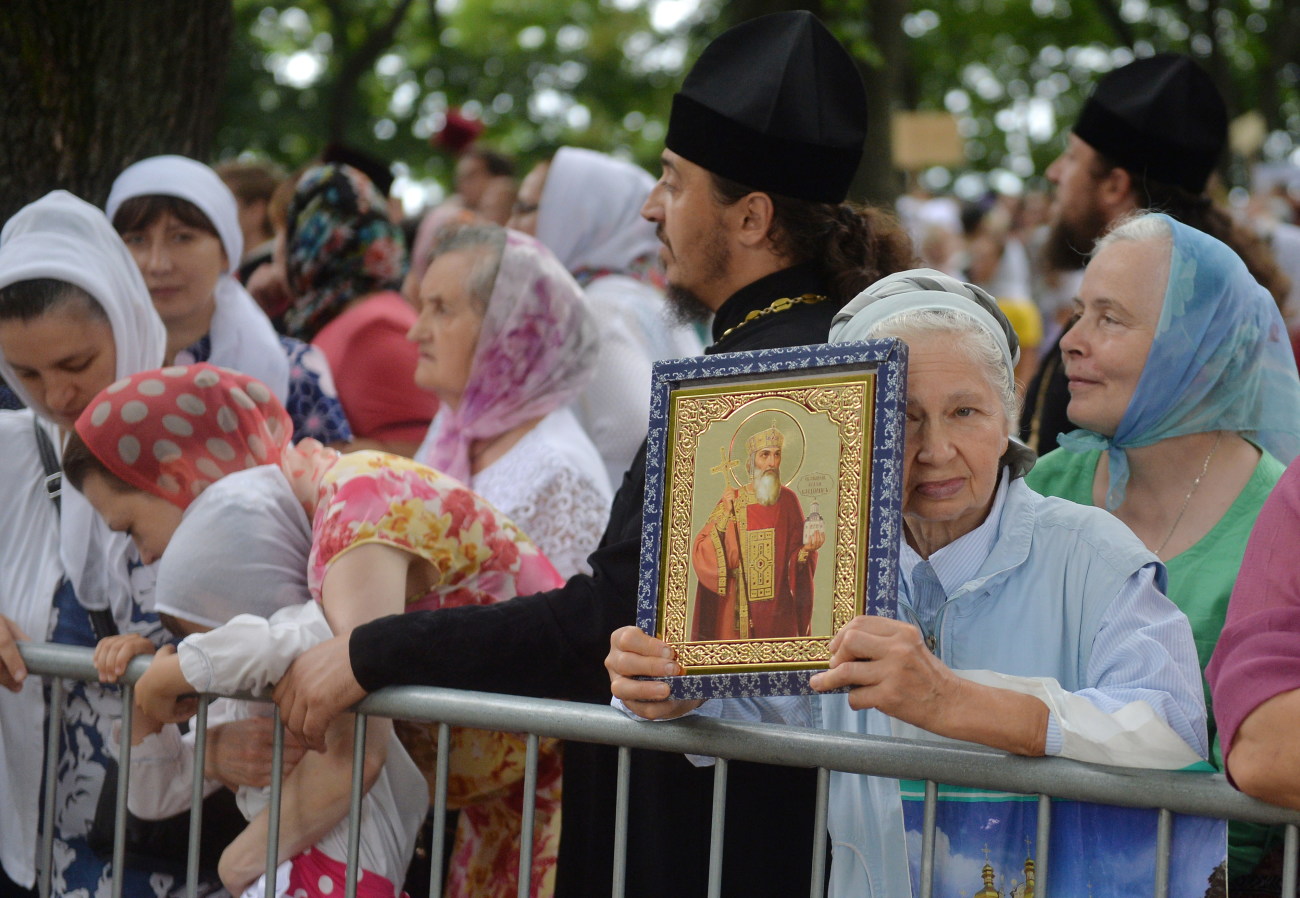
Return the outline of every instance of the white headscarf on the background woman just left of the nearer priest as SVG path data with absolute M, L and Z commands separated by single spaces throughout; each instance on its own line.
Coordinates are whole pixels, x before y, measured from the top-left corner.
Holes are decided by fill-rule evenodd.
M 632 162 L 562 147 L 537 204 L 537 239 L 571 273 L 625 272 L 659 252 L 654 224 L 641 217 L 654 178 Z

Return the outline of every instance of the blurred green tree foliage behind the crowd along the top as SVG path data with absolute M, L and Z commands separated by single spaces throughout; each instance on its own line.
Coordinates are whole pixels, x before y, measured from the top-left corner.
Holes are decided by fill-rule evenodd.
M 460 107 L 525 168 L 575 144 L 654 170 L 686 61 L 736 18 L 815 8 L 868 70 L 887 65 L 867 0 L 699 0 L 667 32 L 651 26 L 660 3 L 234 0 L 216 155 L 292 168 L 343 139 L 446 185 L 450 160 L 428 138 Z M 391 40 L 368 48 L 390 25 Z M 1300 133 L 1291 0 L 913 0 L 898 27 L 894 107 L 956 113 L 974 172 L 1041 174 L 1096 78 L 1135 53 L 1197 56 L 1234 116 L 1264 113 L 1273 159 Z

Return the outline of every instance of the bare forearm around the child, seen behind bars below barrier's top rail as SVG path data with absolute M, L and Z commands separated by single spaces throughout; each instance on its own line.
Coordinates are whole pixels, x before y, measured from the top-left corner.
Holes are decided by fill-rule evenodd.
M 352 795 L 354 720 L 352 715 L 335 719 L 326 733 L 325 751 L 307 752 L 285 778 L 277 863 L 302 854 L 346 820 Z M 370 717 L 367 723 L 363 793 L 370 790 L 384 769 L 391 732 L 393 721 L 384 717 Z M 217 873 L 230 894 L 242 894 L 266 872 L 268 833 L 269 808 L 264 808 L 226 846 Z

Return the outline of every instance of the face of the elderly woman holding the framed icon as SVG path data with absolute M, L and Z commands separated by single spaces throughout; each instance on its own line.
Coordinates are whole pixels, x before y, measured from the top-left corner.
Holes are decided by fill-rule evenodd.
M 988 515 L 1008 421 L 983 366 L 949 334 L 907 338 L 902 512 L 926 556 Z

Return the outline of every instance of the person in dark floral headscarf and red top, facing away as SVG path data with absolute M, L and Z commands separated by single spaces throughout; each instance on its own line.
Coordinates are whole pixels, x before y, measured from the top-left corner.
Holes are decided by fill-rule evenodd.
M 348 165 L 308 169 L 294 188 L 277 252 L 294 298 L 286 333 L 320 347 L 339 373 L 354 447 L 410 457 L 438 402 L 412 379 L 419 351 L 406 334 L 415 311 L 398 292 L 406 243 L 384 196 Z

